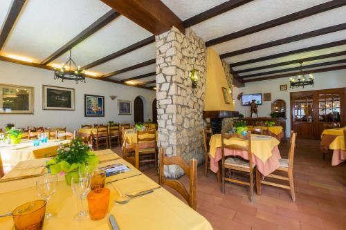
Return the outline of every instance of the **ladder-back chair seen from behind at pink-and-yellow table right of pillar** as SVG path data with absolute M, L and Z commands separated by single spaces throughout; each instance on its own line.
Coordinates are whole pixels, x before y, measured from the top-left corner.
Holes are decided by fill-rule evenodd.
M 247 146 L 240 146 L 238 144 L 225 144 L 225 140 L 229 140 L 232 137 L 238 137 L 244 142 L 248 142 Z M 246 136 L 248 140 L 245 139 L 242 135 L 237 134 L 221 134 L 221 148 L 222 148 L 222 164 L 221 164 L 221 178 L 222 178 L 222 193 L 225 193 L 225 184 L 226 181 L 233 182 L 237 184 L 244 184 L 250 186 L 250 201 L 253 202 L 253 186 L 254 186 L 254 165 L 253 165 L 253 156 L 251 151 L 251 132 L 248 132 Z M 241 157 L 225 157 L 225 149 L 231 149 L 235 151 L 246 151 L 248 153 L 248 160 L 244 160 Z M 238 171 L 243 173 L 248 173 L 250 177 L 250 182 L 245 182 L 243 180 L 236 180 L 233 178 L 226 178 L 226 169 L 230 171 Z M 230 174 L 230 173 L 228 173 Z

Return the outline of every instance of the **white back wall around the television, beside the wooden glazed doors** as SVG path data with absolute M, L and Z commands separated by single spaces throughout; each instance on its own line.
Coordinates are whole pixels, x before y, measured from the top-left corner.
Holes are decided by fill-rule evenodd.
M 346 70 L 336 70 L 325 73 L 313 74 L 315 78 L 314 86 L 306 86 L 303 88 L 289 88 L 289 77 L 283 77 L 279 79 L 271 79 L 260 82 L 249 82 L 242 88 L 233 88 L 233 99 L 235 99 L 235 110 L 244 114 L 245 117 L 250 116 L 250 106 L 242 106 L 242 99 L 238 100 L 237 95 L 239 93 L 251 94 L 251 93 L 271 93 L 271 102 L 275 99 L 284 99 L 286 102 L 286 135 L 289 136 L 291 121 L 290 121 L 290 93 L 305 90 L 320 90 L 327 88 L 342 88 L 346 87 Z M 286 91 L 280 91 L 280 85 L 287 84 Z M 263 95 L 262 95 L 263 97 Z M 259 117 L 270 117 L 271 102 L 262 102 L 261 106 L 258 106 Z

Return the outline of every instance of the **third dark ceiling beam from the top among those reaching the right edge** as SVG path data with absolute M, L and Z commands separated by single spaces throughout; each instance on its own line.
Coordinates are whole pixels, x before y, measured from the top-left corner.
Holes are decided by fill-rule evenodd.
M 333 41 L 333 42 L 329 42 L 327 44 L 321 44 L 321 45 L 317 45 L 317 46 L 309 46 L 307 48 L 301 48 L 298 50 L 291 50 L 291 51 L 287 51 L 287 52 L 280 52 L 278 54 L 275 55 L 268 55 L 268 56 L 264 56 L 264 57 L 258 57 L 255 59 L 249 59 L 246 61 L 239 61 L 239 62 L 235 62 L 233 64 L 230 64 L 231 66 L 235 67 L 235 66 L 244 66 L 247 64 L 253 64 L 256 62 L 260 62 L 260 61 L 267 61 L 270 59 L 275 59 L 275 58 L 280 58 L 280 57 L 286 57 L 289 55 L 295 55 L 301 52 L 310 52 L 310 51 L 315 51 L 315 50 L 322 50 L 325 48 L 331 48 L 331 47 L 335 47 L 335 46 L 343 46 L 346 45 L 346 39 L 345 40 L 340 40 L 340 41 Z

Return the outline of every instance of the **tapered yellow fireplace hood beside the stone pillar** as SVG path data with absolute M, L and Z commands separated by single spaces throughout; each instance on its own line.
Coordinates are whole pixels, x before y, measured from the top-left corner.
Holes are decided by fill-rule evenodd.
M 206 73 L 203 118 L 238 117 L 239 112 L 235 111 L 221 59 L 213 48 L 207 50 Z

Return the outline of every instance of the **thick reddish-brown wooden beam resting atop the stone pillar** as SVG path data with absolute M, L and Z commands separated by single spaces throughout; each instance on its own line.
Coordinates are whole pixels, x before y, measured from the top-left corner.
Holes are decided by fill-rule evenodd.
M 183 21 L 160 0 L 101 1 L 154 35 L 160 35 L 172 26 L 185 34 Z

